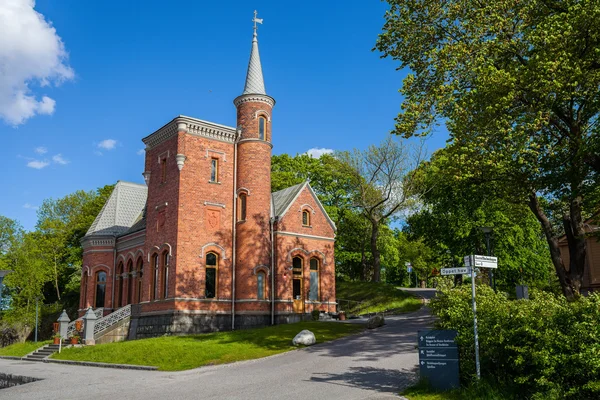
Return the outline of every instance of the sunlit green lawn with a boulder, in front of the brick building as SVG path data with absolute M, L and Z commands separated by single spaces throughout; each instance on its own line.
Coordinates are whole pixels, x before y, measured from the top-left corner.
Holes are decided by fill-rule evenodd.
M 364 326 L 311 321 L 233 332 L 162 336 L 67 348 L 60 354 L 54 354 L 52 358 L 150 365 L 163 371 L 179 371 L 202 365 L 261 358 L 293 350 L 295 347 L 292 346 L 292 339 L 303 329 L 312 331 L 317 338 L 317 343 L 322 343 L 359 332 L 364 329 Z

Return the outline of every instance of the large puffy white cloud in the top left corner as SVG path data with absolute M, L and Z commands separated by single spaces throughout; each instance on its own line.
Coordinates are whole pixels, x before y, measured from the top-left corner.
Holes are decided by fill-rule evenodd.
M 34 88 L 74 77 L 60 36 L 34 6 L 34 0 L 0 1 L 0 119 L 14 126 L 54 113 L 56 102 L 40 100 Z

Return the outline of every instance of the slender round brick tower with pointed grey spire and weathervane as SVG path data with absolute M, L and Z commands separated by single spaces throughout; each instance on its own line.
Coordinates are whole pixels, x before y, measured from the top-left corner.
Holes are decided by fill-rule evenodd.
M 234 100 L 237 108 L 237 222 L 236 222 L 236 310 L 268 311 L 270 298 L 264 282 L 263 299 L 257 299 L 256 273 L 271 269 L 271 111 L 275 100 L 265 91 L 256 23 L 244 92 Z

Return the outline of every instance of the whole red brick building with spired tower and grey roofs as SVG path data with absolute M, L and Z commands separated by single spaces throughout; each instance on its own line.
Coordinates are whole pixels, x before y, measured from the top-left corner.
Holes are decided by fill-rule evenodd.
M 237 128 L 180 115 L 143 139 L 146 186 L 119 181 L 82 239 L 81 312 L 132 304 L 146 337 L 335 310 L 333 222 L 308 182 L 271 193 L 256 30 L 234 105 Z

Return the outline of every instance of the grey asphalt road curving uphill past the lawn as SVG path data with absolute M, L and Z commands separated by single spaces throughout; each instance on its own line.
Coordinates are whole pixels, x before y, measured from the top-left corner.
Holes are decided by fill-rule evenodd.
M 412 289 L 431 298 L 433 290 Z M 0 399 L 388 399 L 414 382 L 417 331 L 427 308 L 386 317 L 382 328 L 259 360 L 182 372 L 79 367 L 0 359 L 0 372 L 42 380 Z

